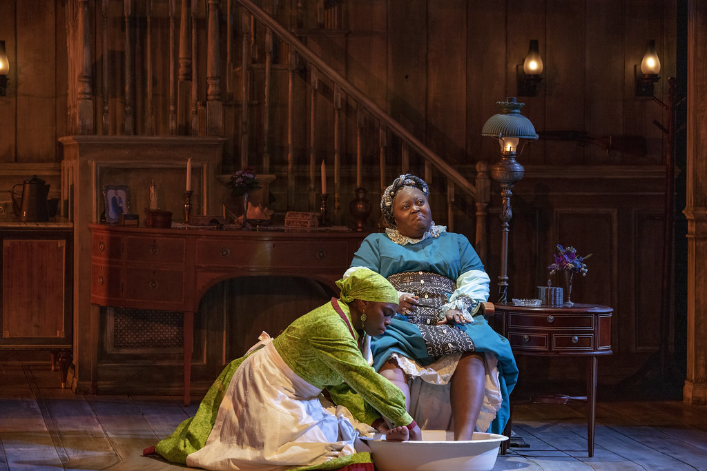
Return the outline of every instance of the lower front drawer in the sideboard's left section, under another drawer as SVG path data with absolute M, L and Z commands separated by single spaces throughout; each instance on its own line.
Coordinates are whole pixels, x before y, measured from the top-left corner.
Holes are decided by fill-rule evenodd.
M 184 302 L 185 273 L 180 270 L 142 270 L 128 268 L 124 298 L 130 301 Z

